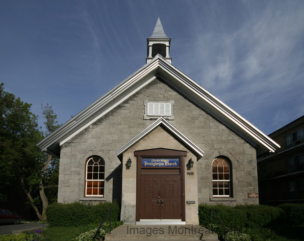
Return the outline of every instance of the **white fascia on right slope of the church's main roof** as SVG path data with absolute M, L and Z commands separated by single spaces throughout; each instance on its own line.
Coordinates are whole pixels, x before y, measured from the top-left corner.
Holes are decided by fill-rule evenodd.
M 170 65 L 168 68 L 168 65 Z M 189 77 L 184 75 L 182 72 L 177 70 L 173 65 L 163 61 L 160 61 L 159 67 L 167 72 L 169 75 L 178 80 L 182 85 L 192 90 L 196 95 L 206 101 L 209 105 L 220 111 L 224 114 L 228 119 L 238 125 L 241 129 L 243 129 L 246 133 L 250 134 L 254 139 L 259 141 L 262 145 L 264 145 L 271 152 L 274 152 L 276 149 L 280 148 L 279 144 L 277 144 L 274 140 L 272 140 L 269 136 L 262 133 L 255 126 L 253 126 L 249 121 L 243 118 L 241 115 L 236 113 L 233 109 L 228 107 L 222 101 L 213 96 L 210 92 L 205 90 L 202 86 L 200 86 L 195 81 L 191 80 Z M 173 71 L 174 70 L 174 71 Z

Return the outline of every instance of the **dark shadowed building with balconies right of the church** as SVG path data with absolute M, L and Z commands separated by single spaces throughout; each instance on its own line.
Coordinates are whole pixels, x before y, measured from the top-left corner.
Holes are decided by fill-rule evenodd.
M 257 157 L 260 202 L 304 202 L 304 116 L 269 137 L 281 149 Z

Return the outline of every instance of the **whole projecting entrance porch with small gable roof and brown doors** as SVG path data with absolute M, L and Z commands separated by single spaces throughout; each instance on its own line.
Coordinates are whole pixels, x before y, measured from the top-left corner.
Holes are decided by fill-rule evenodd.
M 197 160 L 203 151 L 164 118 L 155 123 L 117 151 L 123 162 L 121 219 L 126 224 L 199 224 Z

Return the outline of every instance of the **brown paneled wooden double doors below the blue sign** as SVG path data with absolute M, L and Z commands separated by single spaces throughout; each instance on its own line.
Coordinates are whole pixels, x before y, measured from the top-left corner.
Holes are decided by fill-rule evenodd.
M 181 175 L 140 175 L 140 219 L 181 219 L 181 205 Z

